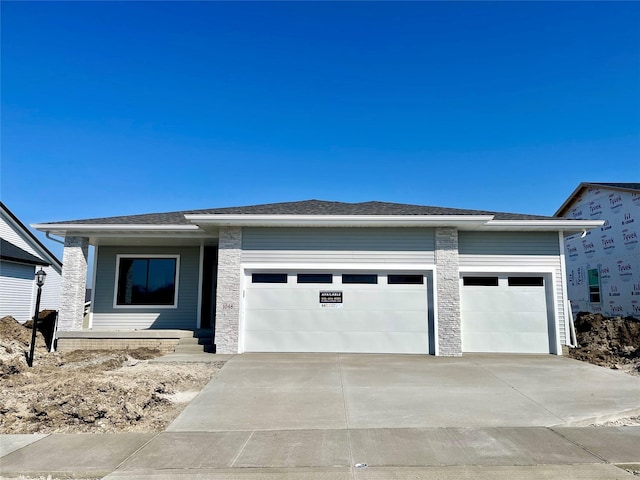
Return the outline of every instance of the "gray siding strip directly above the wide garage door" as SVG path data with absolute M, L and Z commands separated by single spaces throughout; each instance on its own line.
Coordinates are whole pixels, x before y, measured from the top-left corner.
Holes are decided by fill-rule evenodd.
M 242 261 L 433 264 L 432 228 L 244 228 Z

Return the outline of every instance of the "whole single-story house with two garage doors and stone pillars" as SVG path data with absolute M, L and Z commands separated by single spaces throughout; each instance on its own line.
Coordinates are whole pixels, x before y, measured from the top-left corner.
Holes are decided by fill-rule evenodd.
M 563 242 L 599 220 L 319 200 L 34 225 L 65 238 L 59 328 L 213 328 L 219 353 L 561 354 Z M 81 286 L 82 288 L 79 288 Z

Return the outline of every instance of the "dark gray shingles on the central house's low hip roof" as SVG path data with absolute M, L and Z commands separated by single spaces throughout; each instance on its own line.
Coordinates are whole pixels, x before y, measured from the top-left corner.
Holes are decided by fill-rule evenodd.
M 212 208 L 204 210 L 185 210 L 167 213 L 149 213 L 120 217 L 90 218 L 51 222 L 49 225 L 190 225 L 184 216 L 199 215 L 492 215 L 496 220 L 555 220 L 553 217 L 524 215 L 518 213 L 490 212 L 485 210 L 467 210 L 459 208 L 431 207 L 387 202 L 329 202 L 324 200 L 305 200 L 300 202 L 268 203 L 244 207 Z

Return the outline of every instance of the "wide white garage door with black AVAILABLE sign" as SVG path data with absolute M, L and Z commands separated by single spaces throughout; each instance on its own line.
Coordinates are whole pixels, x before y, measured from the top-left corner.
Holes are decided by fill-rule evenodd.
M 429 352 L 422 274 L 253 272 L 246 352 Z

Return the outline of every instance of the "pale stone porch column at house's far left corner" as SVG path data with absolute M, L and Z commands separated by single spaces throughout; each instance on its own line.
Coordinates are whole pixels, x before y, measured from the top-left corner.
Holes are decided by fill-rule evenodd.
M 82 330 L 88 254 L 89 240 L 87 238 L 64 238 L 58 330 Z

